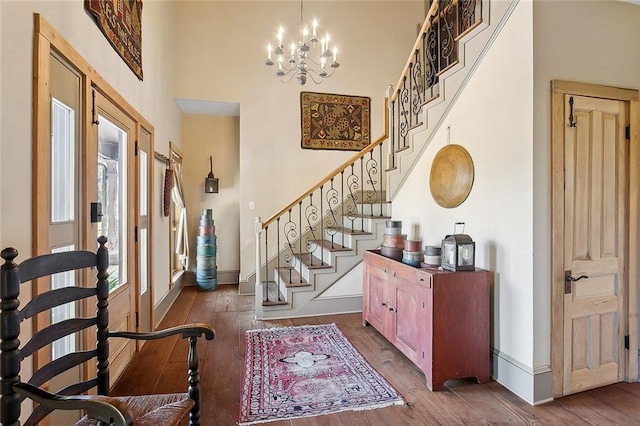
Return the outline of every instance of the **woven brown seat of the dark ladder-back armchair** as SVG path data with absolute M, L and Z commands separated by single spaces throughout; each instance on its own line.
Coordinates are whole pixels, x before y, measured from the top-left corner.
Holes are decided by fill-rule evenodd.
M 107 397 L 118 400 L 130 411 L 134 426 L 178 425 L 187 418 L 195 402 L 186 393 Z M 76 426 L 97 422 L 81 418 Z

